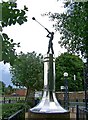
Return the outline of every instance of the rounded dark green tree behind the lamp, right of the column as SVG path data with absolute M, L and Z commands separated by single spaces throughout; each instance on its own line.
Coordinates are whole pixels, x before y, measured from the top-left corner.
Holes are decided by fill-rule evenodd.
M 73 54 L 62 53 L 56 58 L 56 90 L 64 86 L 64 72 L 68 73 L 69 91 L 83 90 L 83 61 Z M 74 81 L 76 75 L 76 81 Z

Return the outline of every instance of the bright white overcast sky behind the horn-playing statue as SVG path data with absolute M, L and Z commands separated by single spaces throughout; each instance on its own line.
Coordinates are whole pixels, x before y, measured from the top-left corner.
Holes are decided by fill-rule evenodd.
M 42 25 L 49 29 L 49 31 L 54 31 L 52 27 L 53 22 L 50 21 L 48 17 L 42 17 L 41 14 L 45 12 L 62 12 L 63 4 L 57 2 L 57 0 L 17 0 L 18 8 L 23 8 L 26 5 L 29 9 L 27 12 L 28 22 L 23 25 L 15 25 L 11 27 L 4 28 L 10 38 L 13 38 L 15 42 L 20 42 L 21 47 L 17 48 L 17 52 L 32 52 L 42 53 L 43 55 L 47 53 L 49 38 L 46 37 L 47 31 L 42 28 L 37 22 L 32 20 L 35 17 Z M 58 40 L 60 39 L 59 32 L 55 33 L 53 46 L 55 56 L 58 56 L 60 52 L 64 52 L 58 45 Z

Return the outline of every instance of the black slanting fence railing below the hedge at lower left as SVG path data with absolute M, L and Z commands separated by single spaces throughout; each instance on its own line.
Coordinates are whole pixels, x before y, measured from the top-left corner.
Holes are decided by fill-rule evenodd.
M 25 120 L 25 110 L 21 109 L 10 117 L 3 118 L 2 120 Z

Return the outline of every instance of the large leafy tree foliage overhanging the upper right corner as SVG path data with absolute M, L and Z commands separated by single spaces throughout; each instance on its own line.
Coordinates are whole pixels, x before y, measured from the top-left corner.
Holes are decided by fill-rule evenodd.
M 88 1 L 65 3 L 65 13 L 49 13 L 56 20 L 55 29 L 60 31 L 59 44 L 68 52 L 88 57 Z

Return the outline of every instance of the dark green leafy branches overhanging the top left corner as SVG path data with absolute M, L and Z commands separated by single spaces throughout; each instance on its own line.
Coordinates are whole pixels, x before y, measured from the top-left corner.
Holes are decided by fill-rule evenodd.
M 2 2 L 2 27 L 7 27 L 11 25 L 15 25 L 18 23 L 19 25 L 27 22 L 26 11 L 28 8 L 24 6 L 24 9 L 19 10 L 17 8 L 17 3 L 15 2 Z

